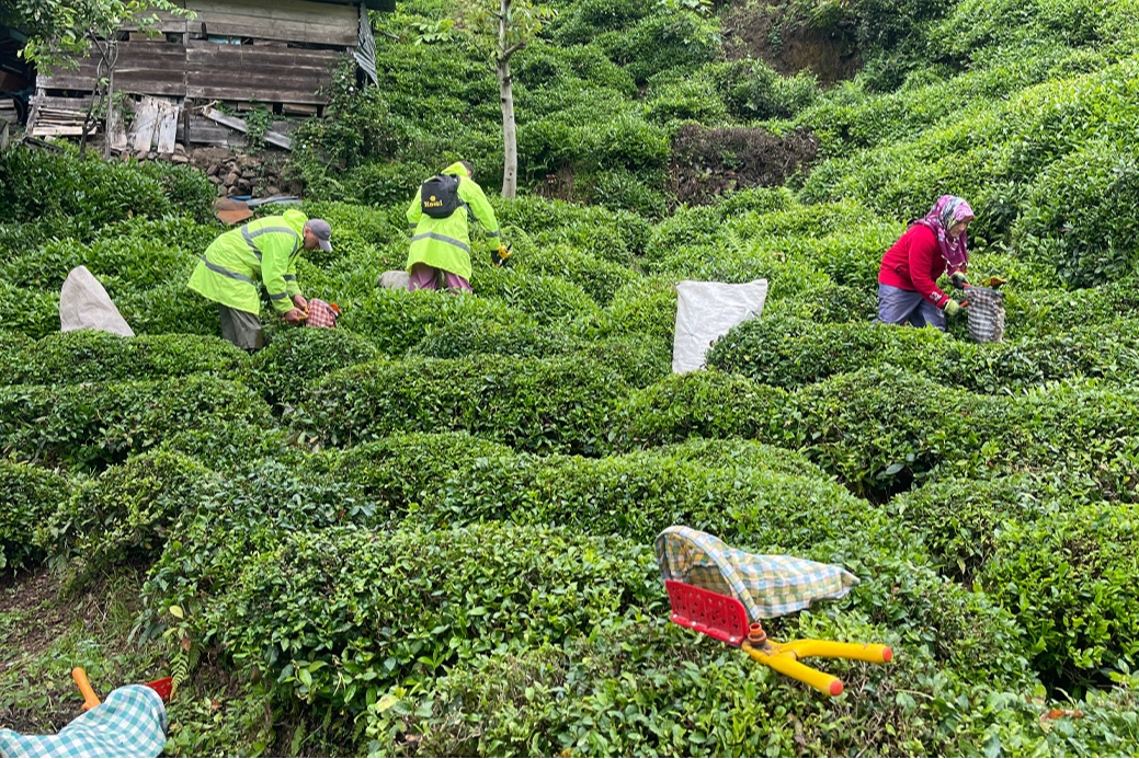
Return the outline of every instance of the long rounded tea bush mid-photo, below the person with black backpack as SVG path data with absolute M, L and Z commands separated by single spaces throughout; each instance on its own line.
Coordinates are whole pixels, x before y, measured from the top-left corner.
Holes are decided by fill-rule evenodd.
M 628 391 L 588 358 L 477 356 L 362 364 L 308 391 L 294 426 L 333 445 L 467 430 L 526 451 L 599 453 Z

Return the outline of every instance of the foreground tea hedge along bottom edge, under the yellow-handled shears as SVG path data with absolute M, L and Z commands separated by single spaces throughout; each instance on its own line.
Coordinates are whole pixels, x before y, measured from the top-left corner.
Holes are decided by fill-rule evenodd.
M 1105 756 L 1139 749 L 1133 682 L 1044 702 L 900 650 L 887 666 L 820 660 L 846 695 L 793 680 L 663 619 L 458 662 L 368 710 L 371 756 Z M 664 628 L 664 629 L 662 629 Z M 785 637 L 884 640 L 853 616 L 802 614 Z M 1042 720 L 1048 707 L 1081 719 Z

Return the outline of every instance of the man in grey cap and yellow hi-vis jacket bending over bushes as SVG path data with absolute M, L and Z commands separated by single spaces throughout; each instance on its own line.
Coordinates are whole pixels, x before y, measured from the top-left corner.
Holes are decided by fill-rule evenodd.
M 295 208 L 257 218 L 210 244 L 189 288 L 218 304 L 222 337 L 252 353 L 262 346 L 259 283 L 278 315 L 301 323 L 309 304 L 296 282 L 297 257 L 302 249 L 331 250 L 331 236 L 328 222 Z

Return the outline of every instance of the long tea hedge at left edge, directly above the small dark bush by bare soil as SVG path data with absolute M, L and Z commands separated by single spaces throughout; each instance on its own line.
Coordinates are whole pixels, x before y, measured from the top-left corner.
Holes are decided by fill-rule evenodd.
M 274 426 L 252 390 L 210 376 L 0 387 L 0 446 L 19 459 L 79 469 L 104 469 L 180 432 L 236 421 Z

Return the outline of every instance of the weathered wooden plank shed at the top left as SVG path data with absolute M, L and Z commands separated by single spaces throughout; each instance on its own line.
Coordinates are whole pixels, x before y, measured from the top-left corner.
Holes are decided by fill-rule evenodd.
M 116 149 L 157 143 L 169 152 L 174 141 L 235 147 L 244 141 L 244 124 L 233 112 L 264 107 L 279 118 L 321 113 L 323 89 L 345 56 L 375 80 L 368 10 L 395 7 L 395 0 L 174 2 L 192 15 L 158 14 L 148 31 L 128 26 L 118 34 L 113 89 L 137 105 L 129 126 L 112 119 Z M 33 137 L 82 133 L 98 57 L 77 63 L 74 69 L 40 72 L 28 114 Z M 219 105 L 230 112 L 228 118 Z M 287 123 L 274 127 L 284 131 Z

